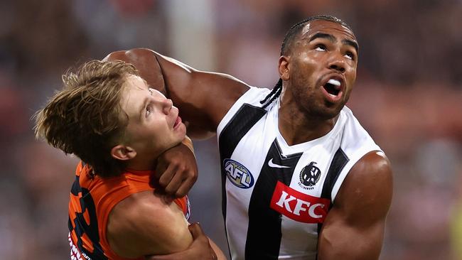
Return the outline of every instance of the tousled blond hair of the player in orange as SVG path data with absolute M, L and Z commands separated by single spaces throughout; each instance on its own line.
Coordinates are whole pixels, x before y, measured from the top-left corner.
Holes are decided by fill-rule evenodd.
M 34 115 L 36 137 L 75 154 L 97 175 L 120 175 L 125 165 L 110 151 L 128 124 L 120 106 L 128 75 L 138 75 L 133 65 L 100 60 L 63 75 L 63 89 Z

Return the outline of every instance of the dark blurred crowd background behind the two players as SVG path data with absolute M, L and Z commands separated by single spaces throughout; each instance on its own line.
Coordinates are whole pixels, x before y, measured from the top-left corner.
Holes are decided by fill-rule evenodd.
M 348 106 L 394 169 L 381 259 L 462 259 L 461 0 L 2 0 L 0 259 L 69 257 L 77 159 L 36 141 L 30 118 L 70 67 L 145 47 L 272 87 L 285 32 L 326 13 L 358 37 Z M 195 149 L 191 220 L 226 250 L 216 139 Z

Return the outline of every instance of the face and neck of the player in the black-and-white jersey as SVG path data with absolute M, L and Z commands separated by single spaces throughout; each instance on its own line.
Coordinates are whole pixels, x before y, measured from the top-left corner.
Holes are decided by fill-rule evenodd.
M 279 131 L 289 145 L 310 141 L 331 131 L 348 101 L 356 79 L 357 50 L 344 43 L 355 36 L 338 23 L 316 21 L 299 36 L 286 56 L 279 58 L 284 81 Z M 348 56 L 348 55 L 350 56 Z M 323 85 L 331 77 L 341 82 L 338 100 L 326 95 Z M 299 117 L 305 120 L 298 120 Z

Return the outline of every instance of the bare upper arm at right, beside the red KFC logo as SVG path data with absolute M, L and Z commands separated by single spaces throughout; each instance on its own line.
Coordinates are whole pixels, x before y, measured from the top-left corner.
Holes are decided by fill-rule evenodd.
M 392 170 L 382 152 L 353 166 L 323 224 L 318 259 L 378 259 L 392 201 Z

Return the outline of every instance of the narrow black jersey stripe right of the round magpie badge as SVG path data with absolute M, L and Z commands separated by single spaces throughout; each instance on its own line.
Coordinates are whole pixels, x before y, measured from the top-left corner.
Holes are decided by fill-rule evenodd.
M 337 182 L 338 175 L 345 167 L 346 163 L 348 163 L 350 159 L 346 156 L 345 152 L 342 148 L 338 148 L 335 152 L 335 155 L 332 158 L 331 166 L 329 166 L 329 170 L 326 175 L 326 180 L 324 181 L 323 191 L 321 192 L 321 197 L 331 200 L 331 206 L 329 210 L 333 206 L 332 202 L 332 190 L 333 185 Z M 318 234 L 321 232 L 321 228 L 323 227 L 322 223 L 318 224 Z

